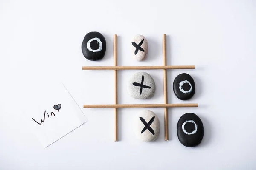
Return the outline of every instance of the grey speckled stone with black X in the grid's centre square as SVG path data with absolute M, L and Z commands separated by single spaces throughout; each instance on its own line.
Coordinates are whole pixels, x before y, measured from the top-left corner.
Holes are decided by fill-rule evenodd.
M 155 91 L 154 79 L 148 73 L 138 72 L 128 82 L 128 93 L 135 99 L 148 99 Z

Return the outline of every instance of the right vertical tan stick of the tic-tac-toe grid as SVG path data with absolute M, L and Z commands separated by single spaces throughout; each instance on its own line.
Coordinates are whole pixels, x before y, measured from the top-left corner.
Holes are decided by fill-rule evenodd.
M 166 34 L 163 34 L 163 65 L 166 66 Z M 163 70 L 163 97 L 164 103 L 167 104 L 167 76 L 166 69 Z M 164 108 L 164 140 L 169 140 L 168 134 L 168 109 Z

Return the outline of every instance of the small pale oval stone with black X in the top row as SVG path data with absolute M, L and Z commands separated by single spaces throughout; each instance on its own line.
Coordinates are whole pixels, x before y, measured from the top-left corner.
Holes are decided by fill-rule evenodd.
M 132 55 L 138 61 L 143 61 L 148 55 L 148 41 L 142 35 L 136 35 L 131 42 Z

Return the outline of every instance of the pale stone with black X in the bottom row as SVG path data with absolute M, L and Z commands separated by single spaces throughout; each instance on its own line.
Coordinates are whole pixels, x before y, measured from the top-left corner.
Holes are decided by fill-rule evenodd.
M 135 117 L 134 132 L 143 142 L 152 142 L 160 133 L 160 122 L 157 115 L 149 110 L 141 111 Z

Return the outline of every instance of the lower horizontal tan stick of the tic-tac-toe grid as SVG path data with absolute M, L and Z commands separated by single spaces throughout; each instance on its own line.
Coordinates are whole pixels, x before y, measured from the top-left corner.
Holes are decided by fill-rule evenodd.
M 198 107 L 197 103 L 189 104 L 116 104 L 116 105 L 84 105 L 84 108 L 184 108 Z

